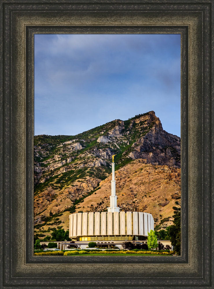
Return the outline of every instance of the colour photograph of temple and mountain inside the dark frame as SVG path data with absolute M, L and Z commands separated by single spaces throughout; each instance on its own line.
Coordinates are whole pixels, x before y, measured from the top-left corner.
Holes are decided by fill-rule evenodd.
M 34 34 L 35 255 L 180 255 L 180 55 L 178 33 Z

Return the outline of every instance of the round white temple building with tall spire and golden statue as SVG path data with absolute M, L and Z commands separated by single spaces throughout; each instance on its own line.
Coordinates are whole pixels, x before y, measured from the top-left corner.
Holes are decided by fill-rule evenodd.
M 108 212 L 69 215 L 69 238 L 74 241 L 145 240 L 154 230 L 154 219 L 144 212 L 120 212 L 117 207 L 115 163 L 112 162 L 110 207 Z

